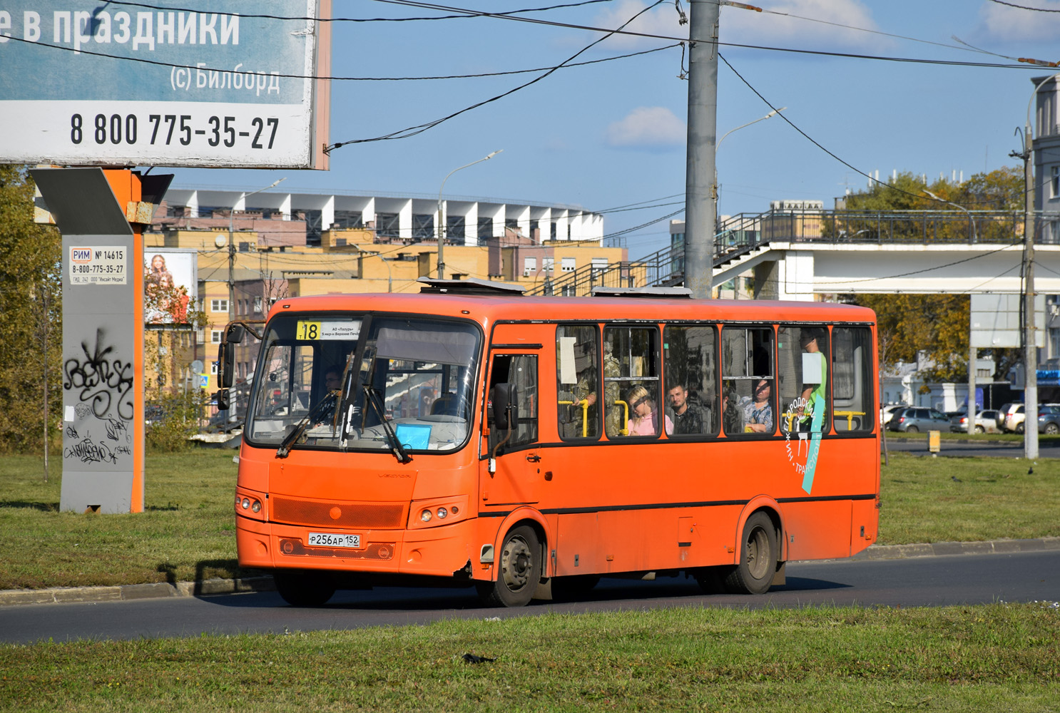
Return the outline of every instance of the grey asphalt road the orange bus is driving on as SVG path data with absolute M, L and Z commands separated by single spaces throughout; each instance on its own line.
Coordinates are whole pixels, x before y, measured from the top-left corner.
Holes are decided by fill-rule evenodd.
M 604 580 L 578 602 L 485 609 L 474 589 L 346 591 L 317 609 L 289 607 L 275 592 L 95 604 L 0 607 L 0 641 L 134 639 L 352 629 L 443 619 L 657 607 L 796 607 L 807 604 L 944 606 L 1060 601 L 1060 551 L 885 560 L 793 563 L 788 584 L 761 596 L 704 594 L 693 581 Z

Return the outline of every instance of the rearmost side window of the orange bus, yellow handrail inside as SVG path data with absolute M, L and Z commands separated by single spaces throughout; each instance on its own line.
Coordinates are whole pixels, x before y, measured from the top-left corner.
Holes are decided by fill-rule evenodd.
M 832 426 L 836 431 L 871 431 L 872 333 L 867 327 L 832 329 Z

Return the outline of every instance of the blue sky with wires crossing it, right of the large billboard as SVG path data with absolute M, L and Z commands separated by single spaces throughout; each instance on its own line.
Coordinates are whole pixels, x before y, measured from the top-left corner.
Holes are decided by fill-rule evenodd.
M 560 0 L 552 0 L 559 4 Z M 570 0 L 567 0 L 568 2 Z M 1060 0 L 1013 0 L 1060 11 Z M 505 12 L 533 0 L 464 0 L 459 7 Z M 687 0 L 682 3 L 687 11 Z M 648 5 L 610 0 L 524 17 L 614 29 Z M 799 54 L 725 42 L 895 58 L 1013 65 L 1005 57 L 1060 59 L 1060 12 L 988 0 L 760 0 L 763 13 L 721 10 L 724 56 L 798 128 L 858 171 L 911 171 L 937 178 L 992 171 L 1015 161 L 1034 76 L 1047 68 L 984 68 Z M 335 17 L 429 17 L 438 12 L 374 0 L 335 0 Z M 651 8 L 630 30 L 679 37 L 674 2 Z M 336 22 L 333 74 L 421 77 L 550 68 L 600 33 L 495 18 Z M 982 51 L 961 46 L 953 36 Z M 612 36 L 576 61 L 673 44 Z M 985 52 L 984 52 L 985 51 Z M 988 54 L 994 53 L 994 54 Z M 996 56 L 1003 55 L 1003 56 Z M 683 200 L 687 82 L 679 48 L 564 68 L 505 99 L 419 136 L 355 143 L 332 154 L 330 172 L 175 170 L 179 184 L 247 190 L 286 176 L 289 191 L 446 195 L 580 204 L 606 213 L 605 233 L 649 222 Z M 332 142 L 369 139 L 432 121 L 506 92 L 538 73 L 436 81 L 335 82 Z M 770 110 L 736 74 L 719 67 L 718 136 Z M 776 199 L 826 207 L 867 178 L 774 117 L 734 132 L 718 154 L 723 214 L 758 213 Z M 681 217 L 681 216 L 677 216 Z M 664 220 L 625 236 L 631 256 L 668 243 Z

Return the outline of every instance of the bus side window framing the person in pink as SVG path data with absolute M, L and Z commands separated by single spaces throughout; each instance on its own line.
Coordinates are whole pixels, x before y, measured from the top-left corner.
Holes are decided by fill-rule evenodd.
M 662 413 L 658 331 L 607 327 L 603 333 L 604 426 L 608 439 L 672 430 Z

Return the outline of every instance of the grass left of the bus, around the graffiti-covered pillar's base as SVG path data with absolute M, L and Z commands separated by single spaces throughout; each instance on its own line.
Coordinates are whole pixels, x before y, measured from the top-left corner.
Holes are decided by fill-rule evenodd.
M 233 576 L 233 450 L 148 454 L 145 512 L 60 513 L 60 478 L 40 460 L 0 459 L 0 589 Z

